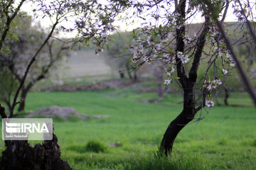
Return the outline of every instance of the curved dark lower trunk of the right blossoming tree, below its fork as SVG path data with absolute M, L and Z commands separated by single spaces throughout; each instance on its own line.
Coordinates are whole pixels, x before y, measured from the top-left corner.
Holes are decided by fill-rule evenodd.
M 160 151 L 164 154 L 171 154 L 174 146 L 174 140 L 180 132 L 191 120 L 193 120 L 196 110 L 195 110 L 195 94 L 193 89 L 184 90 L 184 101 L 183 101 L 183 111 L 170 123 L 164 137 L 161 140 Z

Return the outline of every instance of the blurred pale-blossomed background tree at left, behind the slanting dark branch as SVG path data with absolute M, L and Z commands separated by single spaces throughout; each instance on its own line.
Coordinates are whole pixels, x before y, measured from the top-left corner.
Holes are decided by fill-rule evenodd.
M 40 26 L 31 26 L 32 20 L 29 17 L 22 18 L 21 28 L 14 30 L 18 40 L 9 40 L 6 41 L 6 45 L 10 48 L 10 52 L 5 55 L 0 56 L 0 61 L 3 64 L 3 67 L 9 69 L 9 73 L 11 73 L 11 77 L 13 81 L 18 81 L 21 83 L 23 72 L 28 65 L 29 60 L 31 60 L 31 56 L 35 52 L 36 47 L 40 46 L 40 42 L 42 42 L 47 34 L 45 31 L 40 28 Z M 26 103 L 26 96 L 28 91 L 42 79 L 50 77 L 56 77 L 58 74 L 58 69 L 61 67 L 61 63 L 65 61 L 65 58 L 70 55 L 70 45 L 64 42 L 60 42 L 59 40 L 49 40 L 46 43 L 46 47 L 43 47 L 40 55 L 31 67 L 30 72 L 28 73 L 26 83 L 21 88 L 21 96 L 20 103 L 18 107 L 18 111 L 23 111 Z M 9 77 L 9 74 L 3 74 L 2 79 L 4 77 Z M 7 78 L 6 79 L 9 79 Z M 11 80 L 9 80 L 11 81 Z M 4 93 L 4 89 L 8 89 L 7 86 L 1 90 Z M 9 93 L 8 96 L 3 98 L 5 103 L 8 103 L 7 106 L 11 104 L 11 97 L 13 97 L 14 90 Z M 11 108 L 9 107 L 9 112 L 11 112 Z

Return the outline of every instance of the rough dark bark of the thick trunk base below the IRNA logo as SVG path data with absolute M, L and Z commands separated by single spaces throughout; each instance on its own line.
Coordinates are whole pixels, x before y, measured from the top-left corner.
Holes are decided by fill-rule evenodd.
M 1 118 L 7 118 L 0 105 Z M 3 170 L 69 170 L 68 162 L 60 159 L 60 146 L 53 132 L 53 140 L 45 140 L 43 145 L 34 147 L 27 140 L 6 140 L 6 149 L 2 152 L 1 169 Z

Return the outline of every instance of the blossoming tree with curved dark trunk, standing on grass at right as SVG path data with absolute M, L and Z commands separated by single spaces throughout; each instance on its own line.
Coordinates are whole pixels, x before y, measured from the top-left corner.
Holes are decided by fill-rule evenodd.
M 222 0 L 151 0 L 131 3 L 137 9 L 134 14 L 145 20 L 142 28 L 134 30 L 134 41 L 137 43 L 130 46 L 132 62 L 136 67 L 144 63 L 161 63 L 159 67 L 166 70 L 164 84 L 169 86 L 172 81 L 177 81 L 183 90 L 183 110 L 171 121 L 161 141 L 160 150 L 166 155 L 171 153 L 178 132 L 188 123 L 198 122 L 209 113 L 215 105 L 218 86 L 223 86 L 223 79 L 237 66 L 243 72 L 233 47 L 253 42 L 253 36 L 246 32 L 247 28 L 237 24 L 243 35 L 238 35 L 238 40 L 230 46 L 227 30 L 223 31 L 229 10 L 233 10 L 238 21 L 246 21 L 245 16 L 250 17 L 251 21 L 255 19 L 255 11 L 251 7 L 255 2 L 244 1 L 241 6 L 239 3 Z M 243 13 L 245 6 L 250 9 L 246 15 Z M 191 23 L 198 17 L 203 22 L 201 28 L 190 33 Z M 198 68 L 202 62 L 208 66 L 203 77 L 198 77 Z M 241 75 L 245 85 L 250 85 L 245 74 Z M 247 89 L 250 91 L 250 86 Z M 197 94 L 201 96 L 199 102 L 195 100 Z M 255 96 L 253 91 L 250 94 L 252 98 Z

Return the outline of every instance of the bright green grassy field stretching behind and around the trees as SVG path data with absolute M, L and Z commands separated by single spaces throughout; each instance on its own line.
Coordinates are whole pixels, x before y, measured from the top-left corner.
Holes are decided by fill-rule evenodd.
M 182 98 L 169 94 L 158 103 L 139 102 L 154 98 L 129 88 L 34 92 L 28 94 L 26 111 L 55 105 L 110 116 L 54 121 L 62 157 L 73 169 L 256 169 L 256 112 L 246 94 L 230 99 L 245 107 L 214 107 L 200 123 L 186 126 L 169 158 L 159 157 L 156 150 L 166 127 L 181 112 Z M 114 142 L 120 146 L 111 146 Z

